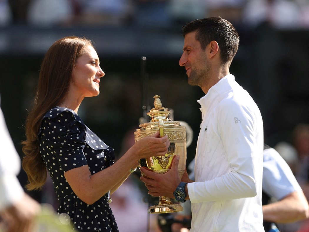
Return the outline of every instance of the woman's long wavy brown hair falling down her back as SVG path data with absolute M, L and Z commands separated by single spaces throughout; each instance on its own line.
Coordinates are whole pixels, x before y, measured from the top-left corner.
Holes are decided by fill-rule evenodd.
M 65 37 L 56 41 L 45 54 L 34 105 L 26 120 L 26 140 L 22 142 L 25 154 L 22 166 L 28 176 L 28 190 L 40 190 L 47 176 L 38 139 L 42 119 L 66 97 L 75 61 L 88 45 L 93 46 L 88 39 Z

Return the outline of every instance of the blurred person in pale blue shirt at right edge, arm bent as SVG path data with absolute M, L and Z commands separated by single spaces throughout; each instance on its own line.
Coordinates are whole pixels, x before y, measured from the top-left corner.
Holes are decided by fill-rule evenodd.
M 270 222 L 280 224 L 309 217 L 309 206 L 289 165 L 273 148 L 264 146 L 263 162 L 263 218 L 265 231 Z M 276 202 L 269 203 L 270 197 Z

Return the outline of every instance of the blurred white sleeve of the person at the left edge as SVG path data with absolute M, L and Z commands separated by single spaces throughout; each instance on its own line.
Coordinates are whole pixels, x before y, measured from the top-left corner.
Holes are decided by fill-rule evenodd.
M 24 194 L 16 175 L 20 171 L 20 158 L 0 109 L 0 212 L 20 200 Z

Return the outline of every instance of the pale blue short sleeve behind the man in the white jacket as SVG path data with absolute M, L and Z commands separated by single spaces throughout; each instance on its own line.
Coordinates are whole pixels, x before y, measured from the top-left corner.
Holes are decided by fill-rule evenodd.
M 265 193 L 277 200 L 301 190 L 289 165 L 273 148 L 264 150 L 262 188 Z

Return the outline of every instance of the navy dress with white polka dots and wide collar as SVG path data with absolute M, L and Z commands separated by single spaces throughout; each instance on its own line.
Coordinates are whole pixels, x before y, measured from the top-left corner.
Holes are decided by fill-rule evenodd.
M 114 163 L 114 150 L 103 143 L 82 119 L 68 108 L 55 107 L 43 118 L 39 132 L 40 154 L 53 180 L 60 203 L 74 230 L 118 231 L 106 193 L 94 204 L 86 204 L 71 189 L 64 173 L 88 165 L 91 174 Z

